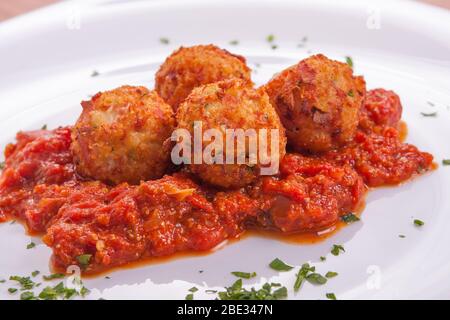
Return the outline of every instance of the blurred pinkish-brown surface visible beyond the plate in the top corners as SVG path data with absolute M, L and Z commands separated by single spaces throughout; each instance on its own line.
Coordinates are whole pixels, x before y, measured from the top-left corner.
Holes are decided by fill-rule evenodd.
M 61 0 L 0 0 L 0 21 Z M 450 0 L 411 0 L 429 3 L 450 10 Z

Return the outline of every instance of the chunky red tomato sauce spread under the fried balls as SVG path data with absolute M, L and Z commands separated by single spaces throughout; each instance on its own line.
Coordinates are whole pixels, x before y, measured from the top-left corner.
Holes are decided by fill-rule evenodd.
M 57 268 L 80 265 L 88 255 L 85 273 L 206 251 L 250 229 L 285 235 L 327 229 L 361 207 L 368 187 L 432 168 L 430 154 L 401 141 L 389 92 L 371 93 L 353 142 L 320 157 L 288 153 L 278 176 L 227 192 L 183 170 L 139 185 L 86 181 L 74 170 L 71 128 L 20 132 L 5 150 L 0 221 L 14 217 L 43 234 Z

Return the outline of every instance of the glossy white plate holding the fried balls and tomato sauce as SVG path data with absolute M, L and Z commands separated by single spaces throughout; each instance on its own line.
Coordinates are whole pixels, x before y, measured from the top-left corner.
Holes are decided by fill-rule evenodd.
M 278 49 L 265 38 L 274 34 Z M 307 37 L 307 41 L 302 39 Z M 170 39 L 169 45 L 159 42 Z M 247 57 L 257 84 L 311 53 L 343 60 L 369 88 L 395 90 L 409 125 L 408 141 L 450 158 L 450 13 L 404 1 L 64 1 L 0 25 L 0 146 L 16 131 L 43 124 L 71 124 L 79 102 L 121 84 L 153 87 L 155 70 L 180 45 L 215 43 Z M 230 40 L 239 45 L 229 45 Z M 299 44 L 303 44 L 299 47 Z M 255 67 L 260 63 L 261 67 Z M 93 70 L 100 72 L 91 77 Z M 427 101 L 434 103 L 431 107 Z M 425 118 L 420 112 L 437 111 Z M 92 299 L 213 298 L 235 278 L 230 271 L 256 271 L 249 286 L 266 281 L 292 288 L 295 271 L 277 273 L 267 264 L 310 261 L 339 276 L 325 286 L 306 284 L 292 299 L 450 298 L 450 168 L 397 188 L 369 194 L 360 223 L 314 245 L 246 238 L 209 255 L 122 269 L 85 280 Z M 413 218 L 425 221 L 414 227 Z M 406 238 L 399 238 L 405 234 Z M 51 251 L 26 250 L 30 237 L 19 225 L 0 225 L 0 278 L 47 273 Z M 339 257 L 332 244 L 343 244 Z M 327 256 L 326 262 L 319 262 Z M 199 270 L 204 270 L 199 273 Z M 0 284 L 0 299 L 16 298 Z

